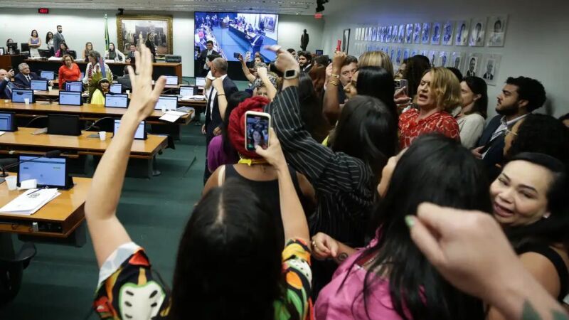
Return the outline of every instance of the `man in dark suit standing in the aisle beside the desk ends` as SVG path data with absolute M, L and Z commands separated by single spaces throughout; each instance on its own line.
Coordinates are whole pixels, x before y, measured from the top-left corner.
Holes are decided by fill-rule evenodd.
M 203 127 L 201 127 L 201 132 L 203 134 L 206 134 L 206 170 L 203 172 L 203 183 L 206 183 L 209 176 L 211 176 L 207 161 L 208 145 L 209 142 L 211 142 L 211 139 L 219 134 L 217 132 L 220 131 L 219 128 L 223 122 L 219 111 L 218 97 L 220 95 L 225 95 L 225 99 L 228 99 L 228 97 L 230 97 L 233 93 L 239 91 L 235 83 L 233 83 L 233 80 L 227 76 L 227 61 L 225 59 L 216 58 L 211 62 L 211 75 L 222 80 L 223 93 L 218 92 L 216 88 L 213 87 L 213 85 L 211 87 L 211 91 L 208 93 L 208 104 L 206 105 L 206 124 L 203 124 Z M 214 131 L 217 134 L 214 134 Z

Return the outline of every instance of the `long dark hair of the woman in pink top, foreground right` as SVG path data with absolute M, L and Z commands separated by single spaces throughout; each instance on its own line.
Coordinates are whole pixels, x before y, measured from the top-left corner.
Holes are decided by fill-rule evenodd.
M 370 225 L 377 231 L 377 243 L 354 262 L 362 265 L 366 257 L 375 257 L 368 260 L 363 282 L 366 314 L 374 287 L 388 274 L 383 279 L 389 282 L 393 309 L 403 319 L 484 319 L 482 302 L 446 282 L 410 239 L 405 216 L 415 214 L 425 201 L 466 210 L 491 208 L 482 164 L 459 142 L 441 134 L 415 139 L 400 157 L 373 214 Z

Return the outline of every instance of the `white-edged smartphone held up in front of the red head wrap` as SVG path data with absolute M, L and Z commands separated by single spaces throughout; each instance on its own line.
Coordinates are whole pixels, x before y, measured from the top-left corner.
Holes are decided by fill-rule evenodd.
M 267 149 L 271 115 L 265 112 L 245 112 L 245 149 L 255 151 L 256 146 Z

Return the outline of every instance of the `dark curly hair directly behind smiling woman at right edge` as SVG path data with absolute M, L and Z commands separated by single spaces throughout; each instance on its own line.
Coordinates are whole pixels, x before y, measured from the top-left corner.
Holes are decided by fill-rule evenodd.
M 547 114 L 528 114 L 511 142 L 506 158 L 522 152 L 538 152 L 569 164 L 569 128 Z

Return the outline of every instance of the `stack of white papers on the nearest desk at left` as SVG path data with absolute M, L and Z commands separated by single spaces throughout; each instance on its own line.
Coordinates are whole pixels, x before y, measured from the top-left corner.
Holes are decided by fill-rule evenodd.
M 60 194 L 56 188 L 30 189 L 0 208 L 0 213 L 33 215 L 33 213 L 36 213 L 37 210 L 40 210 L 41 207 Z

